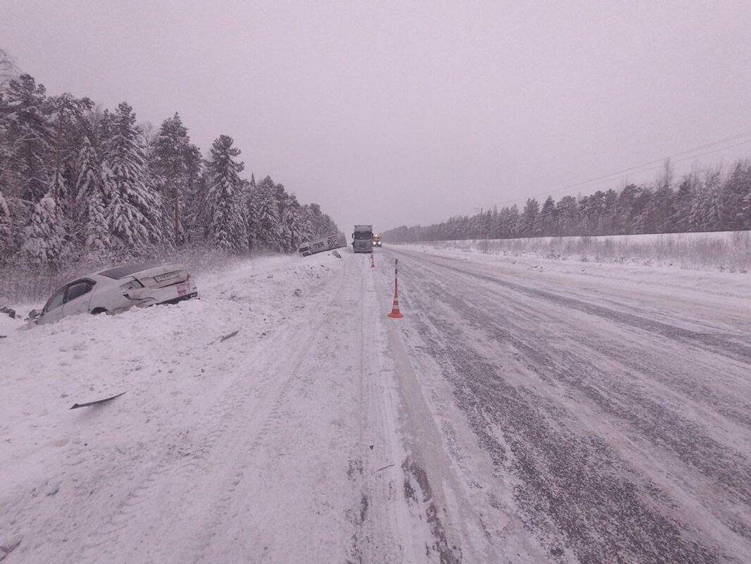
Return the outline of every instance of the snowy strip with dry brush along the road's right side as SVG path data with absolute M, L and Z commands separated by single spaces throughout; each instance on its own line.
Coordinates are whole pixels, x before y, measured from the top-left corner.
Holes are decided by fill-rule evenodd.
M 751 269 L 751 231 L 428 241 L 419 245 L 574 262 L 617 262 L 743 274 Z

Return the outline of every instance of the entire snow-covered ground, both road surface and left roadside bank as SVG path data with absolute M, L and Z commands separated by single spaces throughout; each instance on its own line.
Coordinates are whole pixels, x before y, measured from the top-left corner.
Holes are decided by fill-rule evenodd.
M 751 562 L 747 274 L 341 254 L 0 318 L 0 561 Z

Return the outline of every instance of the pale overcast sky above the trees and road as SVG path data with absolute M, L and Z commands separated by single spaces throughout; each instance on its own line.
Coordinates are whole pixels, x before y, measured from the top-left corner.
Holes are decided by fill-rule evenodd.
M 676 171 L 751 156 L 749 30 L 748 0 L 0 0 L 49 93 L 179 111 L 204 156 L 231 135 L 346 233 L 653 180 L 560 190 L 740 133 Z

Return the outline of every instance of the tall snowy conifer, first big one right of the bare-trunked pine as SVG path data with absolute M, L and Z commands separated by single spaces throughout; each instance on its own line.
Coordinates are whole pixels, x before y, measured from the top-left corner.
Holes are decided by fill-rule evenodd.
M 223 250 L 236 252 L 247 248 L 248 232 L 239 176 L 245 165 L 236 162 L 240 150 L 232 147 L 233 143 L 228 135 L 219 135 L 211 147 L 207 210 L 211 241 Z

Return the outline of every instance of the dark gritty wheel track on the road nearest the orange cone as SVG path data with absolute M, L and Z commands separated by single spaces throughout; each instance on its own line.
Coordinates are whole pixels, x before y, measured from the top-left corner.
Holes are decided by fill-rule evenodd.
M 413 258 L 424 268 L 424 261 Z M 527 334 L 525 340 L 515 337 L 499 323 L 495 313 L 498 308 L 494 308 L 492 302 L 478 299 L 487 292 L 485 288 L 470 283 L 456 268 L 451 268 L 454 279 L 449 282 L 445 274 L 435 268 L 436 264 L 431 263 L 434 268 L 430 268 L 430 274 L 420 280 L 421 287 L 413 285 L 411 299 L 405 301 L 413 310 L 425 312 L 418 320 L 430 353 L 439 360 L 445 378 L 454 385 L 457 403 L 472 422 L 496 468 L 520 478 L 517 502 L 526 513 L 529 528 L 550 546 L 553 556 L 559 550 L 564 553 L 560 549 L 562 545 L 571 546 L 583 562 L 610 561 L 626 554 L 640 562 L 661 559 L 719 562 L 731 558 L 723 554 L 722 549 L 684 539 L 683 525 L 660 511 L 661 505 L 665 508 L 666 499 L 654 490 L 653 484 L 634 475 L 605 441 L 569 431 L 565 413 L 537 396 L 533 389 L 506 382 L 499 364 L 475 352 L 464 330 L 455 326 L 454 320 L 460 317 L 476 332 L 484 332 L 487 341 L 496 342 L 502 348 L 510 345 L 518 351 L 517 361 L 520 359 L 526 368 L 548 378 L 565 376 L 561 373 L 556 376 L 556 370 L 562 365 L 570 369 L 571 374 L 578 374 L 578 377 L 566 381 L 568 386 L 576 381 L 584 385 L 598 375 L 596 372 L 584 370 L 584 365 L 577 365 L 571 357 L 553 362 L 541 353 L 542 343 L 535 342 L 533 333 Z M 436 280 L 446 280 L 446 283 Z M 457 287 L 463 287 L 472 299 L 457 296 L 454 290 Z M 442 296 L 440 311 L 436 311 L 434 296 Z M 594 312 L 599 313 L 602 311 Z M 615 320 L 623 320 L 623 317 Z M 659 325 L 650 327 L 662 329 Z M 530 346 L 526 341 L 537 346 Z M 510 356 L 508 350 L 499 359 L 504 356 Z M 652 408 L 661 408 L 650 408 L 647 399 L 634 396 L 636 390 L 623 386 L 614 391 L 614 395 L 619 391 L 625 393 L 624 399 L 632 399 L 627 402 L 631 405 L 636 397 L 635 405 L 646 414 Z M 636 417 L 638 413 L 634 414 Z M 670 414 L 667 421 L 680 423 L 680 417 Z M 683 441 L 681 449 L 695 448 L 696 430 L 679 431 L 677 440 Z M 502 440 L 496 438 L 497 432 L 503 434 Z M 709 443 L 704 441 L 704 444 Z M 721 451 L 719 445 L 713 447 L 713 453 Z M 707 461 L 711 463 L 711 459 Z M 743 474 L 743 467 L 736 466 L 728 486 L 739 487 Z M 553 528 L 544 532 L 550 526 Z M 556 530 L 559 532 L 550 532 Z

